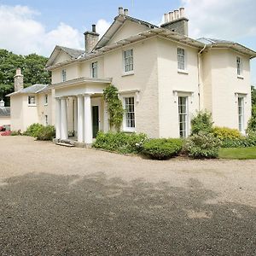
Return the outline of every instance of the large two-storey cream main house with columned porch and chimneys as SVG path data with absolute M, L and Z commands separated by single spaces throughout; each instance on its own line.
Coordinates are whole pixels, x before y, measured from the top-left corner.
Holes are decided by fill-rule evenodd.
M 149 137 L 188 137 L 197 110 L 215 125 L 244 132 L 251 116 L 252 49 L 230 41 L 188 37 L 184 9 L 155 26 L 119 8 L 99 39 L 96 26 L 84 33 L 85 49 L 56 46 L 47 62 L 52 83 L 56 138 L 74 133 L 90 144 L 108 131 L 102 93 L 114 84 L 125 108 L 122 130 Z

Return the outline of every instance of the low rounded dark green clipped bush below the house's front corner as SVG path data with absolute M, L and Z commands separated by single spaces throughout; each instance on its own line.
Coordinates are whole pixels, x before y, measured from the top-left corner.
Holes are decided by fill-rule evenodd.
M 182 148 L 182 139 L 151 139 L 144 143 L 143 154 L 154 160 L 167 160 L 179 154 Z

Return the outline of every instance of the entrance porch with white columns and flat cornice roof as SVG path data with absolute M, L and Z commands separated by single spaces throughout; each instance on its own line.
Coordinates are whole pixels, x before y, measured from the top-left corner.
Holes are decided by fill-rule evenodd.
M 55 143 L 90 147 L 98 131 L 108 131 L 103 90 L 111 79 L 74 79 L 55 88 Z

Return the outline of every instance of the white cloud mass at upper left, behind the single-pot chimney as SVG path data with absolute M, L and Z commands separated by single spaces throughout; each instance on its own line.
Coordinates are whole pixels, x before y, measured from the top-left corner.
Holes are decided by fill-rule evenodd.
M 38 11 L 27 6 L 0 4 L 0 48 L 22 55 L 45 56 L 50 55 L 56 44 L 84 49 L 83 32 L 63 22 L 47 31 L 44 24 L 36 20 L 37 15 L 40 15 Z M 97 31 L 102 35 L 109 25 L 106 20 L 98 20 Z

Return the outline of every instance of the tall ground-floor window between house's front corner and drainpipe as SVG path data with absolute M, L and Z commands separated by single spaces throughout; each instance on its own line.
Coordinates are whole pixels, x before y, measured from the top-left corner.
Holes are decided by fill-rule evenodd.
M 188 97 L 178 97 L 179 136 L 188 137 Z

